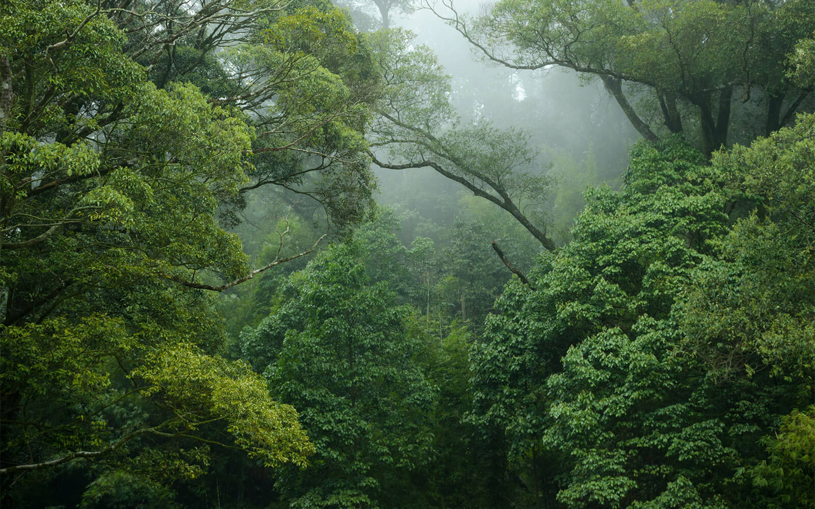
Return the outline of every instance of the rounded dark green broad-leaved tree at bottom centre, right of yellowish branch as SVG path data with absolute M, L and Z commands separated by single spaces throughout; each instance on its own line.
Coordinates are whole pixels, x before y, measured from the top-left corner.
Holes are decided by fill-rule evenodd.
M 315 443 L 313 466 L 280 479 L 293 507 L 395 507 L 407 474 L 430 457 L 434 388 L 412 360 L 408 310 L 387 283 L 370 284 L 358 255 L 354 244 L 325 250 L 243 336 L 245 355 Z

